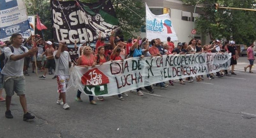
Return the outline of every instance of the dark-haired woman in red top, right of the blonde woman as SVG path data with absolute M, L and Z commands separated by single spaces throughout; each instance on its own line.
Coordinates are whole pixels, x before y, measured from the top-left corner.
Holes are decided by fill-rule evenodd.
M 105 48 L 103 46 L 98 47 L 97 49 L 98 54 L 95 55 L 95 59 L 97 61 L 97 65 L 102 65 L 103 63 L 107 62 L 105 53 Z M 103 101 L 103 96 L 98 96 L 97 100 Z

